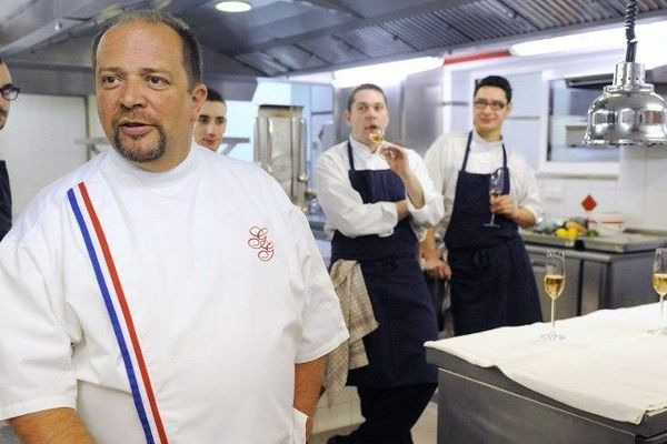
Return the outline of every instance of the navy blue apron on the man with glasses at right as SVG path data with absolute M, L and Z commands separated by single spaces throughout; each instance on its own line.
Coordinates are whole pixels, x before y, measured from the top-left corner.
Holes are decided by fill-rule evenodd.
M 541 321 L 537 285 L 517 223 L 496 214 L 500 226 L 484 226 L 491 219 L 490 174 L 466 171 L 471 139 L 472 132 L 468 134 L 451 220 L 445 233 L 447 261 L 451 268 L 451 315 L 457 335 Z M 502 194 L 508 194 L 505 144 L 502 169 Z

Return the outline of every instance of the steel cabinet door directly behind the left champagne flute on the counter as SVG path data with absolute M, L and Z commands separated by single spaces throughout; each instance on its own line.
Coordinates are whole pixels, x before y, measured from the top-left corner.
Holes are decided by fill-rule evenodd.
M 579 312 L 579 273 L 581 261 L 568 258 L 567 252 L 565 254 L 565 290 L 563 290 L 563 294 L 556 301 L 556 319 L 574 317 Z M 530 258 L 532 273 L 535 274 L 539 292 L 542 319 L 547 321 L 551 317 L 551 299 L 544 289 L 546 254 L 530 252 L 528 256 Z

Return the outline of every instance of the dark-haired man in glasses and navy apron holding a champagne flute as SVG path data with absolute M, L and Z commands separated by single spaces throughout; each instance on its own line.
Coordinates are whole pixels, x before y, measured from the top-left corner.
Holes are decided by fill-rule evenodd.
M 535 172 L 502 140 L 502 123 L 510 112 L 507 79 L 486 77 L 475 87 L 474 129 L 441 135 L 426 153 L 428 172 L 445 196 L 438 230 L 446 253 L 438 252 L 434 230 L 421 251 L 431 276 L 450 279 L 457 335 L 541 321 L 518 228 L 534 225 L 542 210 Z M 494 196 L 489 182 L 497 170 L 505 174 L 500 193 Z M 491 213 L 495 223 L 489 223 Z

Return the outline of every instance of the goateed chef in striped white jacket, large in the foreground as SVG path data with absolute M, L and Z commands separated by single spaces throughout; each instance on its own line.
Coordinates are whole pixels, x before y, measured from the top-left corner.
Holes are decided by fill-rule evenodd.
M 30 444 L 306 443 L 348 336 L 306 218 L 260 169 L 191 148 L 187 24 L 122 14 L 93 53 L 113 150 L 0 243 L 0 420 Z

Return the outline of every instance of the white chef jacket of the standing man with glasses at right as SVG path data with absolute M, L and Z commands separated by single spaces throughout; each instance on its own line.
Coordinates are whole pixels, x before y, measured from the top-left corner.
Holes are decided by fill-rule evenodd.
M 440 233 L 449 226 L 456 182 L 464 165 L 468 132 L 452 132 L 440 135 L 428 149 L 425 155 L 428 173 L 434 181 L 436 190 L 445 198 L 445 216 L 440 224 Z M 521 153 L 512 151 L 505 145 L 507 151 L 507 168 L 509 169 L 509 195 L 517 205 L 525 208 L 539 220 L 542 206 L 537 188 L 535 171 Z M 472 130 L 470 154 L 466 171 L 475 174 L 489 174 L 502 167 L 502 141 L 487 142 L 477 131 Z

